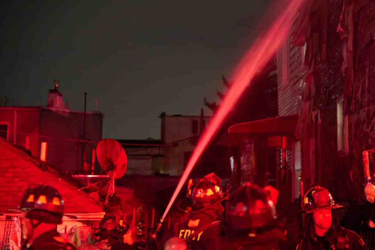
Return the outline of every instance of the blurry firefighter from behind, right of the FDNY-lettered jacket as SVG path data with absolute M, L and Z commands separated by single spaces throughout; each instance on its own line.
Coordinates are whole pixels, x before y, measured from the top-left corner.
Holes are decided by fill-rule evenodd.
M 288 249 L 285 230 L 276 216 L 278 191 L 245 183 L 232 193 L 225 207 L 220 237 L 223 249 Z

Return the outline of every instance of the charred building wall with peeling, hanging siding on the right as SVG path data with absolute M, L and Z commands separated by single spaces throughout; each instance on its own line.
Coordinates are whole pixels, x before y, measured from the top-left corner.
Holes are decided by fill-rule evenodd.
M 373 1 L 309 1 L 279 50 L 279 111 L 299 114 L 305 191 L 320 184 L 336 199 L 362 199 L 362 152 L 374 148 L 374 10 Z

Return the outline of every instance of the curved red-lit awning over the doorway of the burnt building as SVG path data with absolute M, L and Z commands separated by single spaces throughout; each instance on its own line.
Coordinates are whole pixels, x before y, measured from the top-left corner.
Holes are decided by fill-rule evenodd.
M 298 115 L 288 115 L 234 124 L 217 144 L 237 145 L 251 135 L 291 136 L 294 134 L 297 121 Z

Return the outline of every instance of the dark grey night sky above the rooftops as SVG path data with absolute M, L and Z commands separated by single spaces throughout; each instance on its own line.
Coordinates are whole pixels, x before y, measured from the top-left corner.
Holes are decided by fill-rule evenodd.
M 272 0 L 18 1 L 2 6 L 0 96 L 105 115 L 104 138 L 160 138 L 158 115 L 199 115 L 251 45 Z M 205 115 L 211 115 L 205 108 Z

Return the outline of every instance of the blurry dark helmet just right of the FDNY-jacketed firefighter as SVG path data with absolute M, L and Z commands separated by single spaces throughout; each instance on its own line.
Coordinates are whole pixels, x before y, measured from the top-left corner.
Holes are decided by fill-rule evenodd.
M 269 193 L 261 187 L 245 183 L 229 197 L 225 224 L 233 231 L 256 230 L 275 222 L 276 208 Z

